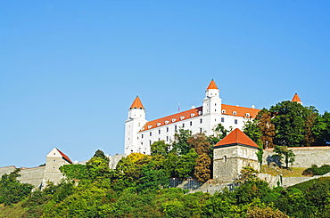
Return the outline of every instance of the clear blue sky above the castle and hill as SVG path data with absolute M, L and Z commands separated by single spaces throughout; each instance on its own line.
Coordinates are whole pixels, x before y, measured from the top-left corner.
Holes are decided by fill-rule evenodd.
M 202 105 L 269 108 L 298 93 L 330 110 L 329 1 L 2 1 L 0 166 L 124 151 L 128 108 L 147 120 Z

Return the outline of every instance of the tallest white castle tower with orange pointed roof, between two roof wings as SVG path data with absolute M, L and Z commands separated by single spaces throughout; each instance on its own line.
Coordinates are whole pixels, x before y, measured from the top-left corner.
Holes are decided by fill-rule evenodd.
M 202 101 L 203 122 L 205 122 L 205 133 L 212 134 L 212 129 L 219 124 L 221 118 L 220 91 L 212 79 L 205 91 L 205 98 Z

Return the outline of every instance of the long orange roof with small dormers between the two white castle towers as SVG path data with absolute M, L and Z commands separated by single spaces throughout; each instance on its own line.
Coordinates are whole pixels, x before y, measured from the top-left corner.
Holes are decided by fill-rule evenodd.
M 143 132 L 145 130 L 153 129 L 162 125 L 168 125 L 175 123 L 177 121 L 186 120 L 193 117 L 198 117 L 202 115 L 202 107 L 196 108 L 196 109 L 188 109 L 186 111 L 170 115 L 168 117 L 162 117 L 159 119 L 155 119 L 153 121 L 147 122 L 144 127 L 142 127 L 140 132 Z

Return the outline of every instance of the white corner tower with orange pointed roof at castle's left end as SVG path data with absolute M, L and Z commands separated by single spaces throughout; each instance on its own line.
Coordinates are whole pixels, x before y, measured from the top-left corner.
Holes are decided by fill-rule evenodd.
M 125 121 L 125 151 L 126 155 L 130 153 L 149 153 L 149 149 L 143 143 L 138 144 L 137 133 L 145 125 L 145 109 L 140 98 L 136 96 L 132 105 L 128 109 L 128 119 Z

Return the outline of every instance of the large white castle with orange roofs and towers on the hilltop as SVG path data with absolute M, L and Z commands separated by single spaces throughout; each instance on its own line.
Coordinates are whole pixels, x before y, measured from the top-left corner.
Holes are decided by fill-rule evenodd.
M 188 109 L 168 117 L 152 121 L 145 119 L 144 105 L 137 96 L 128 109 L 128 119 L 125 121 L 125 154 L 150 154 L 150 145 L 154 141 L 174 141 L 174 133 L 180 128 L 194 133 L 213 134 L 216 125 L 221 124 L 226 129 L 242 130 L 244 121 L 257 116 L 260 109 L 244 108 L 222 104 L 219 89 L 214 82 L 205 91 L 202 106 Z

